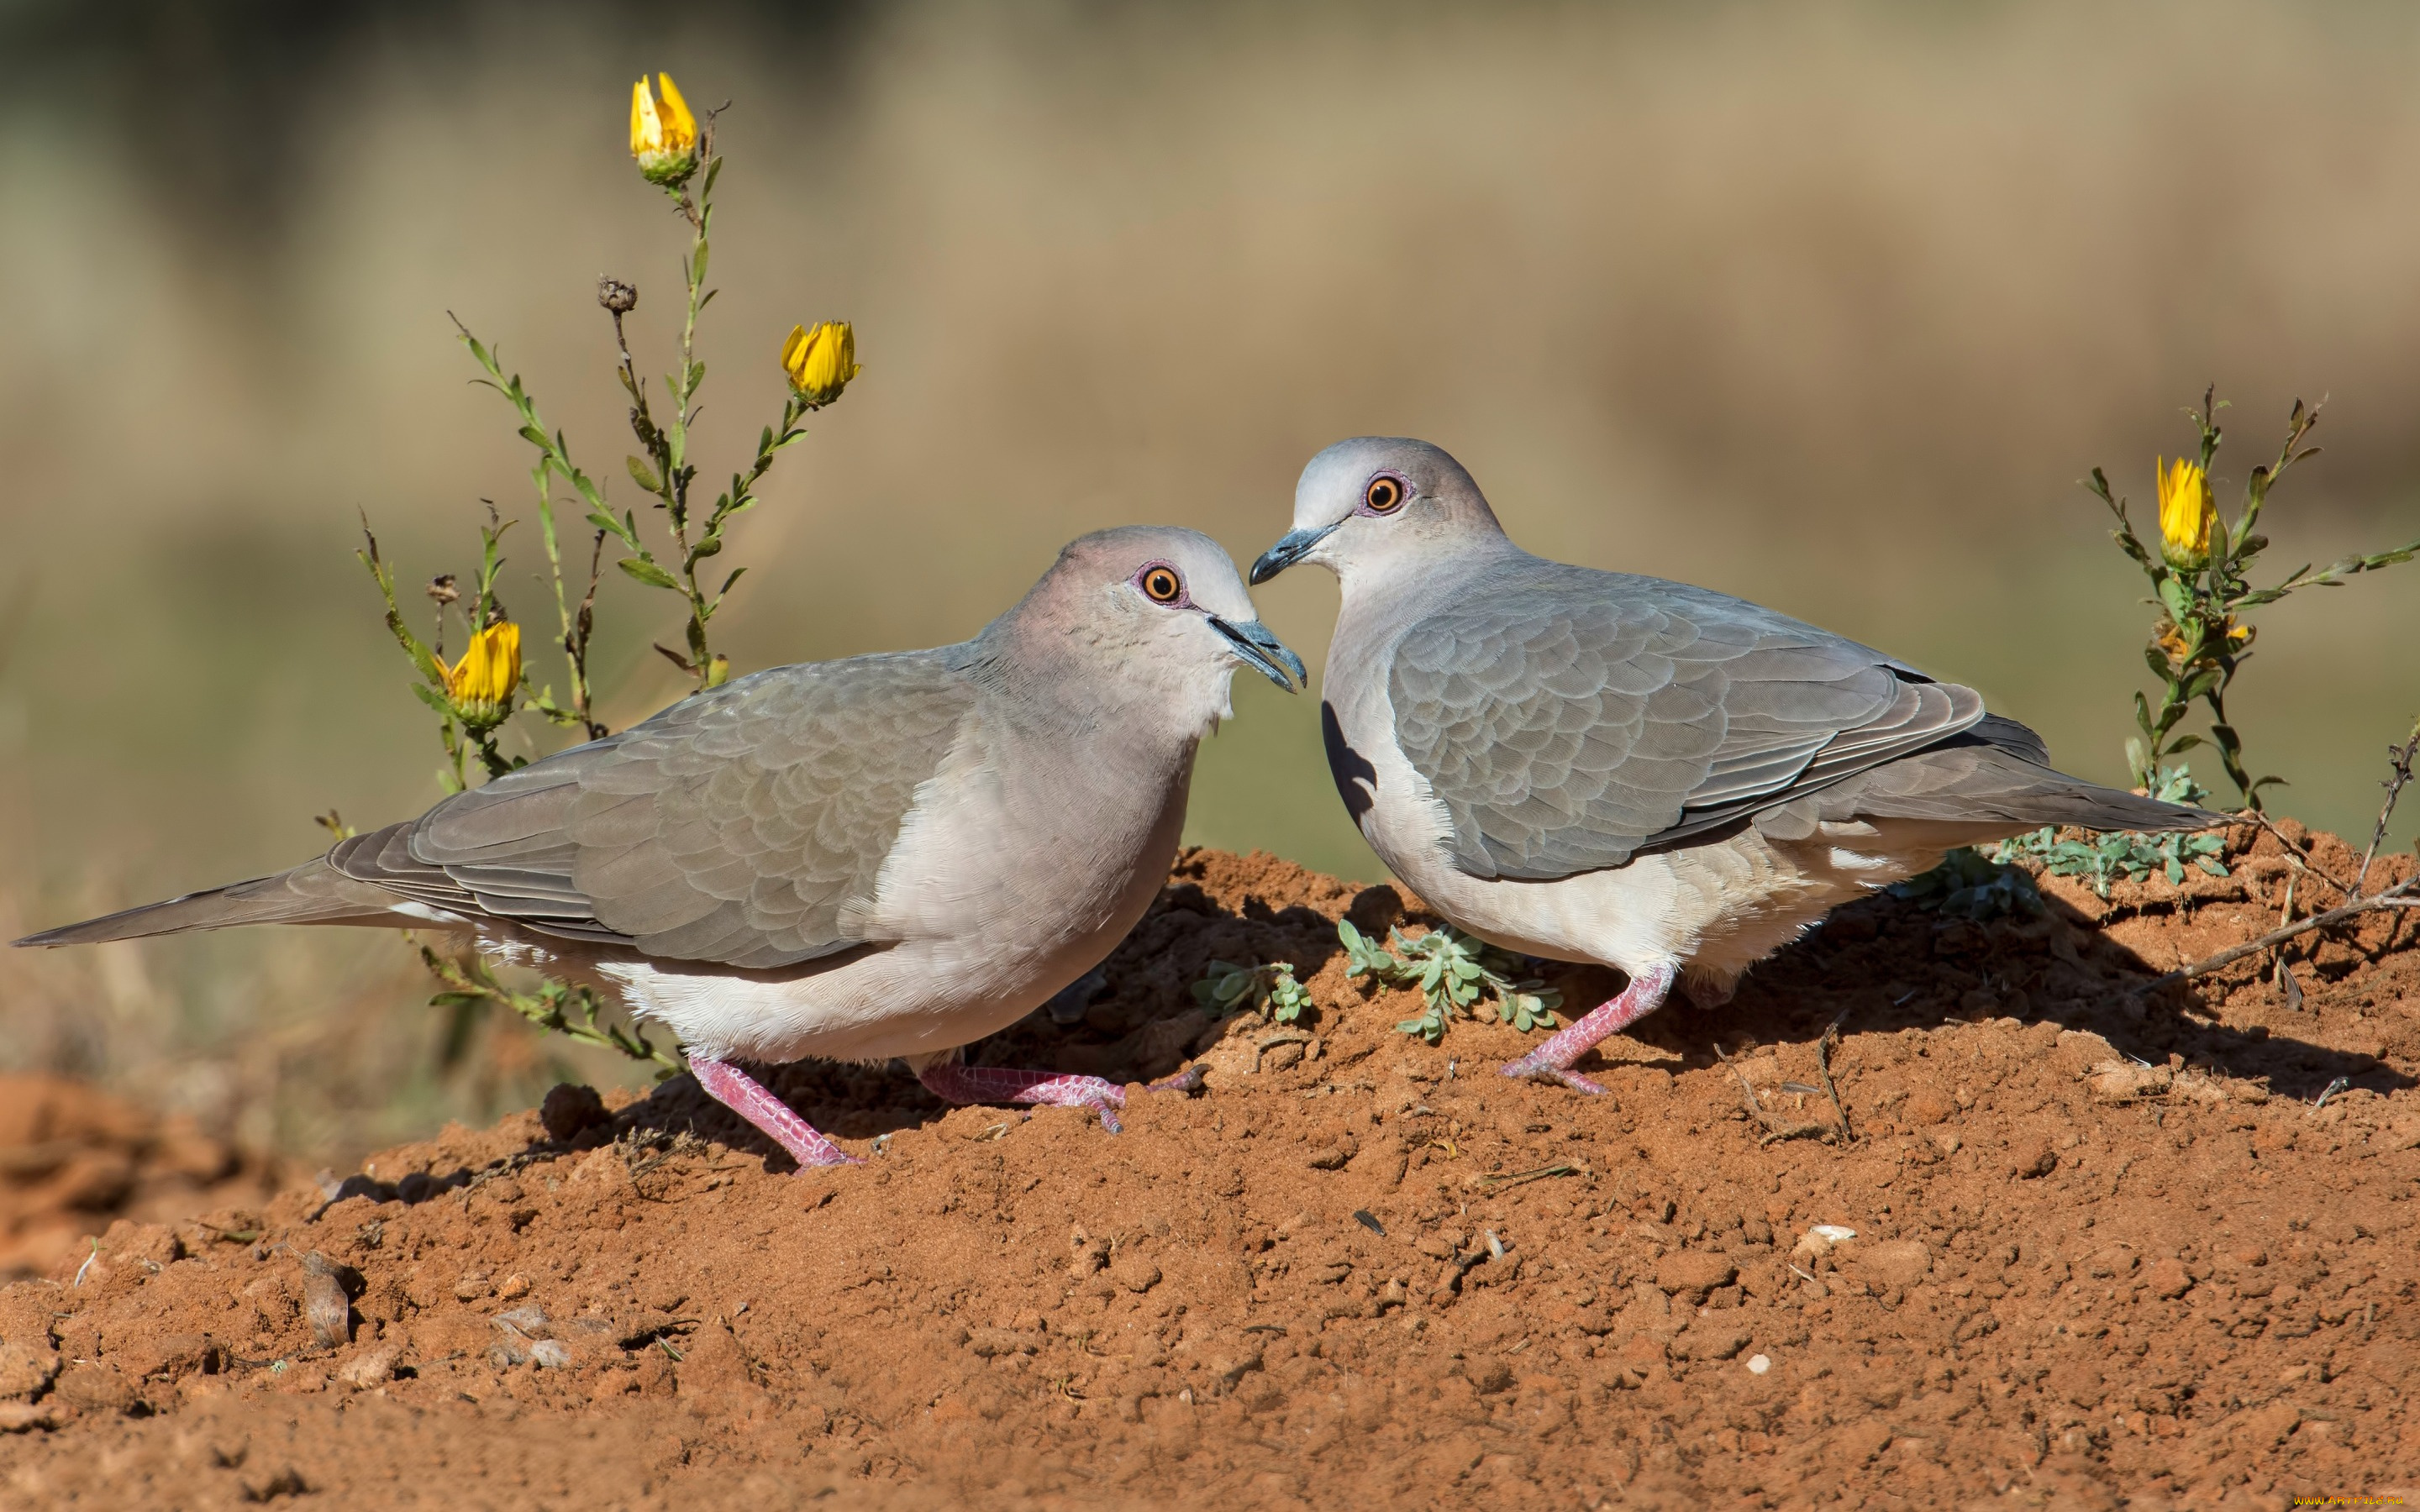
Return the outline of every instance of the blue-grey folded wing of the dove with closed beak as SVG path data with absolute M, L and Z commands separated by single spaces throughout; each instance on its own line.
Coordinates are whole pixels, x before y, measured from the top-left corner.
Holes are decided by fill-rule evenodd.
M 1982 697 L 1745 600 L 1522 561 L 1418 619 L 1394 738 L 1471 876 L 1621 866 L 1955 735 Z

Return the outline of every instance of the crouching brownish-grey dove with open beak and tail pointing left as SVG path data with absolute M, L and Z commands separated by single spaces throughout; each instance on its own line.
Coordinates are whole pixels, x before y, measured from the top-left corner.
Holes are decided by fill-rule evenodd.
M 801 1166 L 849 1161 L 738 1064 L 903 1057 L 958 1103 L 1084 1106 L 1099 1077 L 961 1064 L 1142 919 L 1237 665 L 1292 692 L 1193 530 L 1060 552 L 973 641 L 772 668 L 278 876 L 17 941 L 227 924 L 467 931 L 670 1028 Z

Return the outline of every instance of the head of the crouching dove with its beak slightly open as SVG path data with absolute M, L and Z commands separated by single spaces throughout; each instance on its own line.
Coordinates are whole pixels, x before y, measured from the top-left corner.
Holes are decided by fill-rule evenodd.
M 1285 692 L 1304 677 L 1302 658 L 1261 627 L 1227 552 L 1174 525 L 1070 542 L 985 636 L 1002 636 L 1028 675 L 1082 680 L 1125 719 L 1162 706 L 1179 726 L 1227 716 L 1237 663 Z

